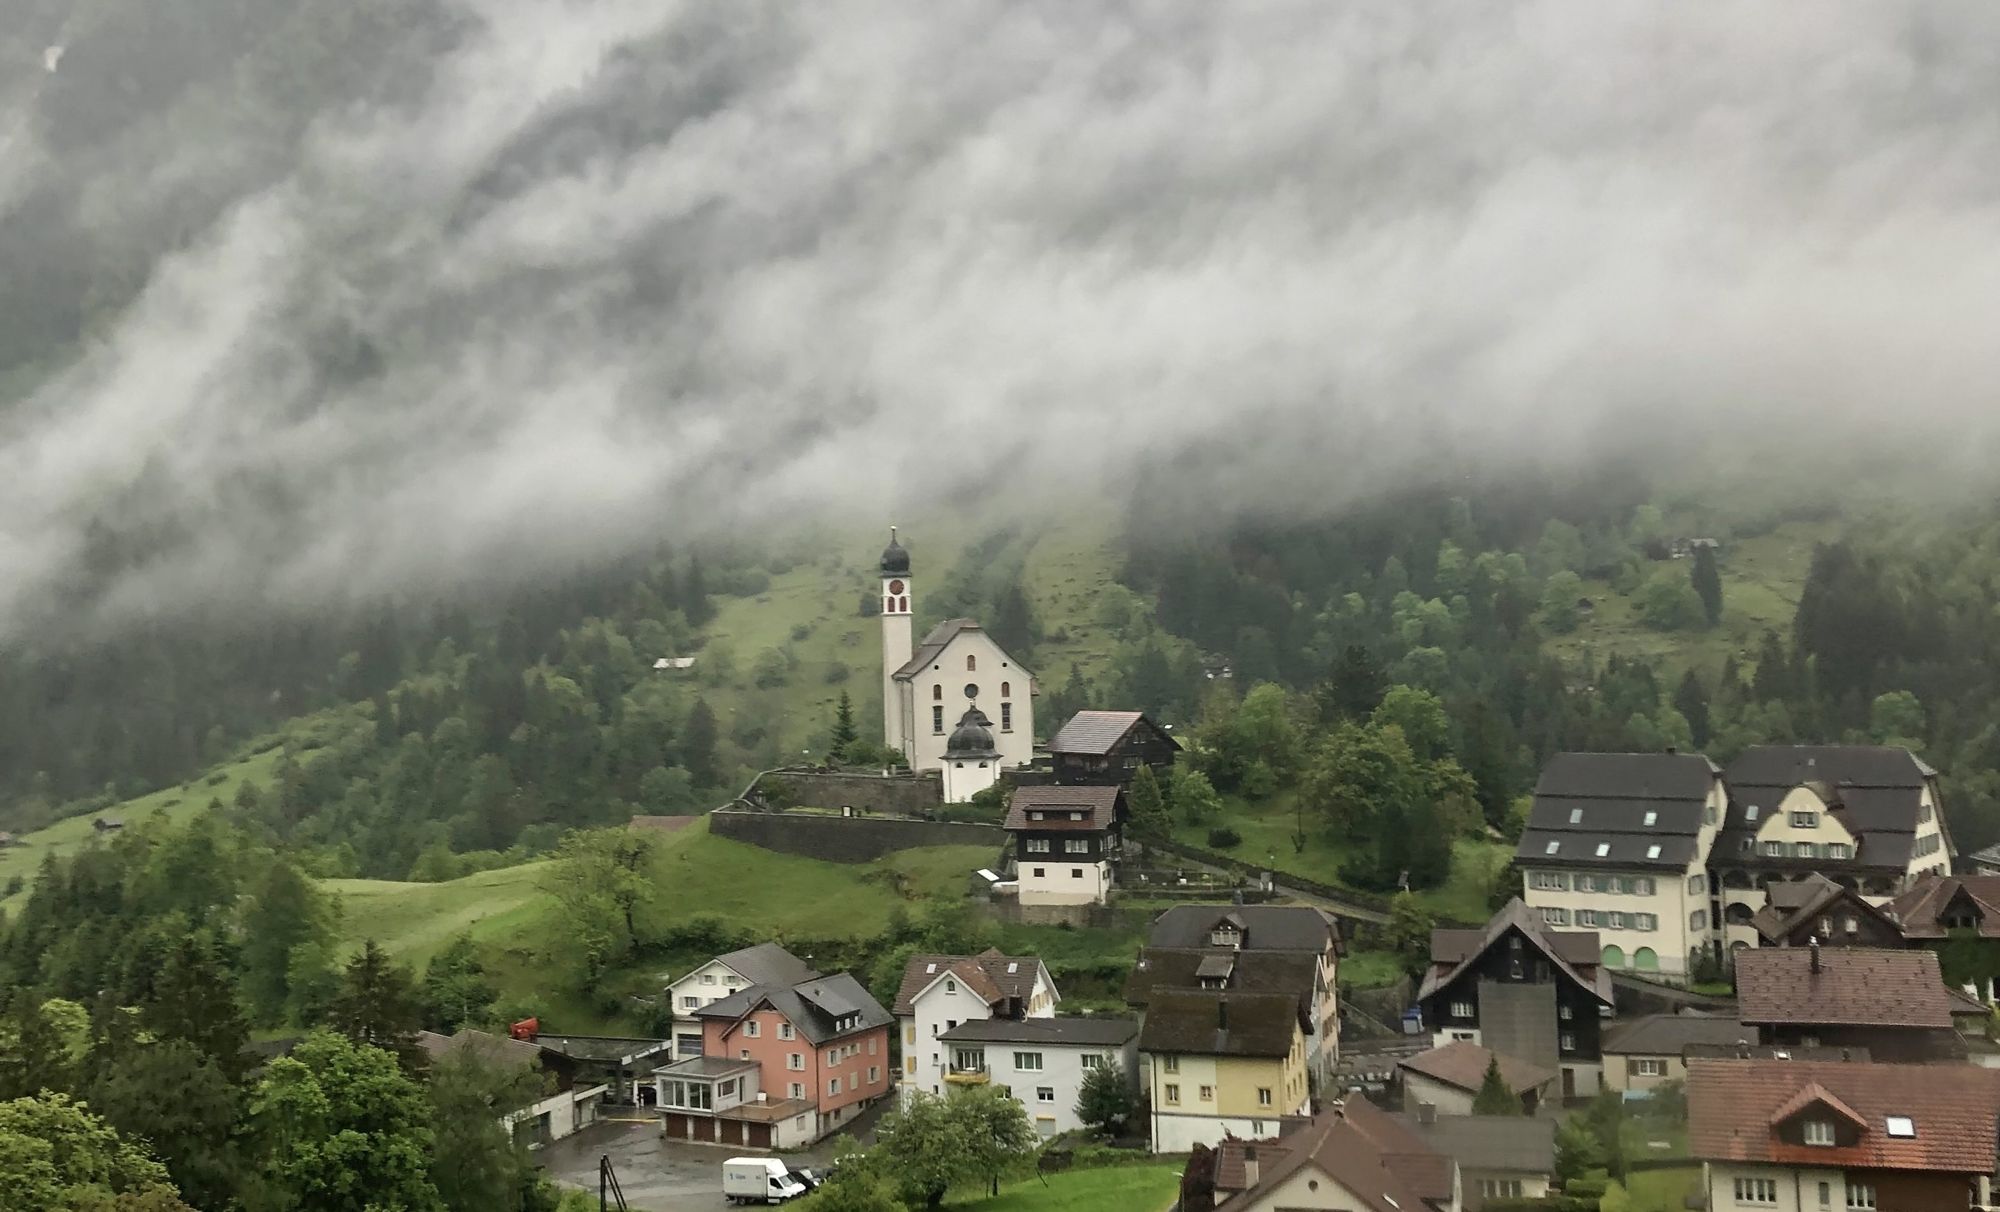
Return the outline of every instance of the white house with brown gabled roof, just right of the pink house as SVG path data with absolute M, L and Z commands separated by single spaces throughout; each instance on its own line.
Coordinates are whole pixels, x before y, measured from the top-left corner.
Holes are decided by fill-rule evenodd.
M 896 990 L 896 1034 L 902 1040 L 904 1096 L 914 1090 L 942 1094 L 950 1074 L 944 1032 L 990 1018 L 1050 1018 L 1056 982 L 1034 956 L 910 956 Z

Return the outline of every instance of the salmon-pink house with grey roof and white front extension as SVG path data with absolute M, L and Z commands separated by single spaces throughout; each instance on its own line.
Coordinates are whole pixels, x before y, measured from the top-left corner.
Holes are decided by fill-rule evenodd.
M 654 1076 L 672 1138 L 792 1148 L 888 1094 L 894 1018 L 846 972 L 752 986 L 694 1014 L 702 1054 Z

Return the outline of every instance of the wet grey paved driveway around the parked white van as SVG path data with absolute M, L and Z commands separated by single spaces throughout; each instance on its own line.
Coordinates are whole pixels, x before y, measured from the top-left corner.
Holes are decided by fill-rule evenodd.
M 824 1170 L 850 1142 L 872 1144 L 876 1124 L 894 1102 L 894 1098 L 880 1100 L 808 1150 L 772 1156 L 782 1156 L 794 1170 L 800 1166 Z M 728 1208 L 730 1202 L 722 1198 L 724 1158 L 770 1154 L 740 1144 L 666 1140 L 660 1136 L 660 1116 L 632 1106 L 606 1106 L 600 1116 L 590 1128 L 542 1148 L 536 1162 L 562 1186 L 596 1194 L 598 1158 L 608 1156 L 626 1206 L 634 1212 Z

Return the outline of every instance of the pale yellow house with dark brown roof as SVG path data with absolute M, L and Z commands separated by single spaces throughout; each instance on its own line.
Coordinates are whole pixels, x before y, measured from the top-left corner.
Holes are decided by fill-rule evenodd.
M 1310 1110 L 1310 1008 L 1298 994 L 1158 990 L 1146 1008 L 1154 1152 L 1276 1136 Z

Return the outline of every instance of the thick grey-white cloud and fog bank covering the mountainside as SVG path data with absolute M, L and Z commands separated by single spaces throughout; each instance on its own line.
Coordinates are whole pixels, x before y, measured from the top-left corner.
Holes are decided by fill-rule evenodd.
M 1992 452 L 1994 4 L 464 12 L 0 424 L 0 618 L 96 516 L 160 544 L 122 618 L 1190 450 L 1220 510 L 1666 432 Z M 0 240 L 54 156 L 12 96 Z M 92 222 L 232 154 L 174 134 Z

